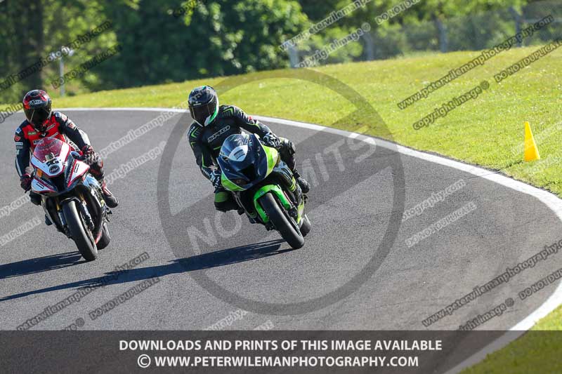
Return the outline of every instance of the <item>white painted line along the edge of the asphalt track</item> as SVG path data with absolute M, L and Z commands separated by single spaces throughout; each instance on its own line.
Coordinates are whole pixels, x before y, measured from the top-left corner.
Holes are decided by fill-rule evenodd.
M 178 113 L 187 112 L 186 109 L 158 108 L 158 107 L 148 107 L 148 108 L 134 108 L 134 107 L 131 107 L 131 108 L 128 108 L 128 107 L 61 108 L 60 110 L 89 111 L 89 112 L 92 112 L 92 111 L 143 111 L 143 112 L 178 112 Z M 374 138 L 374 137 L 369 136 L 369 135 L 362 135 L 362 134 L 359 134 L 359 133 L 353 133 L 351 131 L 339 130 L 337 128 L 329 128 L 329 127 L 325 127 L 325 126 L 321 126 L 321 125 L 316 125 L 314 123 L 292 121 L 292 120 L 289 120 L 289 119 L 278 119 L 278 118 L 273 118 L 273 117 L 268 117 L 268 116 L 254 116 L 254 115 L 252 115 L 252 116 L 256 119 L 261 120 L 261 121 L 274 122 L 274 123 L 279 123 L 279 124 L 287 125 L 287 126 L 308 128 L 310 130 L 316 130 L 316 131 L 325 131 L 327 133 L 333 133 L 333 134 L 342 135 L 342 136 L 350 137 L 350 138 L 362 137 L 363 138 L 362 140 L 365 140 L 365 138 L 374 139 L 377 147 L 383 147 L 383 148 L 386 148 L 386 149 L 397 151 L 397 152 L 399 152 L 401 154 L 405 154 L 407 156 L 415 157 L 417 159 L 422 159 L 424 161 L 429 161 L 429 162 L 432 162 L 432 163 L 438 163 L 438 164 L 443 165 L 443 166 L 455 168 L 457 170 L 464 171 L 464 172 L 472 174 L 472 175 L 476 175 L 480 178 L 490 180 L 490 181 L 495 182 L 495 183 L 497 183 L 499 185 L 502 185 L 504 187 L 508 187 L 508 188 L 514 189 L 518 192 L 522 192 L 523 194 L 528 194 L 530 196 L 534 196 L 535 198 L 539 199 L 542 203 L 544 203 L 544 205 L 546 205 L 548 208 L 550 208 L 551 211 L 553 211 L 556 214 L 556 216 L 558 216 L 558 219 L 562 221 L 562 200 L 559 199 L 558 196 L 552 194 L 551 192 L 547 192 L 544 189 L 540 189 L 538 187 L 533 187 L 531 185 L 526 184 L 525 182 L 521 182 L 519 180 L 514 180 L 514 179 L 509 178 L 505 175 L 501 175 L 501 174 L 497 174 L 497 173 L 491 173 L 490 174 L 489 170 L 486 170 L 486 169 L 478 167 L 478 166 L 469 165 L 468 163 L 462 163 L 460 161 L 455 161 L 455 160 L 452 160 L 452 159 L 446 159 L 444 157 L 437 156 L 435 154 L 429 154 L 429 153 L 425 153 L 425 152 L 421 152 L 421 151 L 416 151 L 414 149 L 410 149 L 408 147 L 398 145 L 394 142 L 390 142 L 388 140 L 382 140 L 380 138 Z M 502 337 L 497 338 L 497 340 L 495 340 L 494 342 L 491 342 L 489 345 L 487 345 L 486 347 L 481 349 L 481 351 L 476 352 L 476 354 L 473 354 L 468 359 L 462 361 L 462 363 L 459 363 L 457 366 L 455 366 L 455 368 L 452 368 L 451 370 L 447 371 L 447 373 L 458 373 L 463 368 L 466 368 L 468 366 L 473 365 L 474 363 L 478 363 L 478 362 L 482 361 L 483 359 L 485 359 L 485 356 L 487 354 L 495 352 L 497 349 L 501 349 L 502 347 L 507 345 L 512 340 L 515 340 L 516 338 L 518 338 L 518 336 L 523 335 L 523 333 L 525 333 L 526 330 L 529 330 L 530 328 L 532 328 L 532 326 L 534 326 L 535 323 L 537 323 L 537 321 L 539 319 L 542 319 L 544 316 L 547 316 L 547 314 L 552 312 L 554 309 L 556 309 L 556 307 L 558 307 L 558 305 L 561 305 L 561 304 L 562 304 L 562 283 L 558 285 L 558 288 L 556 288 L 556 290 L 554 290 L 554 293 L 552 293 L 552 295 L 550 295 L 550 297 L 547 299 L 547 301 L 542 303 L 542 305 L 540 305 L 540 307 L 535 309 L 534 312 L 532 312 L 531 314 L 526 316 L 525 319 L 523 319 L 523 321 L 520 321 L 515 326 L 513 326 L 509 329 L 509 331 L 519 331 L 519 332 L 521 332 L 521 334 L 507 334 L 506 333 L 506 334 L 502 335 Z

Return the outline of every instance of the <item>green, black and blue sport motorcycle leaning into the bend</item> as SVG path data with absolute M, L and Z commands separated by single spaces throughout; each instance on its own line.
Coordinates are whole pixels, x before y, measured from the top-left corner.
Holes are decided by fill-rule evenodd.
M 277 149 L 255 134 L 230 135 L 218 155 L 221 182 L 232 192 L 250 222 L 276 229 L 292 248 L 304 245 L 311 222 L 304 213 L 306 195 Z

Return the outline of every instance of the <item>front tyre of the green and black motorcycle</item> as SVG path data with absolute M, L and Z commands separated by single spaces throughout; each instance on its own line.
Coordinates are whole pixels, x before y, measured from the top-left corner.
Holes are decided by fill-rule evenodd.
M 304 246 L 304 238 L 299 231 L 296 222 L 289 216 L 285 208 L 277 203 L 273 194 L 268 192 L 259 199 L 259 203 L 275 229 L 281 234 L 282 238 L 289 243 L 292 248 L 299 249 Z

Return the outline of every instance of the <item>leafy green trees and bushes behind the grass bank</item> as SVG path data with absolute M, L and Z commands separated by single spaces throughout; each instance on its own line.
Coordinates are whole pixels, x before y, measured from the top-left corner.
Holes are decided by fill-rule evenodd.
M 556 1 L 551 2 L 556 8 Z M 550 4 L 424 0 L 377 25 L 377 16 L 400 1 L 372 0 L 303 40 L 296 53 L 303 60 L 365 22 L 371 25 L 367 36 L 336 49 L 322 64 L 438 51 L 443 41 L 438 20 L 447 28 L 448 51 L 488 48 L 514 34 L 510 8 L 532 17 L 541 14 L 545 3 Z M 284 41 L 350 4 L 351 0 L 4 0 L 0 83 L 105 20 L 112 28 L 65 57 L 65 72 L 117 44 L 122 51 L 68 81 L 70 95 L 285 68 L 289 55 L 279 48 Z M 541 37 L 551 36 L 550 31 Z M 16 102 L 31 88 L 53 91 L 51 81 L 58 75 L 55 60 L 1 90 L 0 102 Z

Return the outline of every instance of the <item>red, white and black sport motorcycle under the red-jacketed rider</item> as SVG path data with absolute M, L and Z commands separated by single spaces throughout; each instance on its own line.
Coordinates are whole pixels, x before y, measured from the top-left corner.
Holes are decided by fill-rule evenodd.
M 82 160 L 79 152 L 57 138 L 39 140 L 31 159 L 31 189 L 41 195 L 47 218 L 58 231 L 74 240 L 84 259 L 93 261 L 98 249 L 110 243 L 111 211 L 98 181 L 88 172 L 90 166 Z

